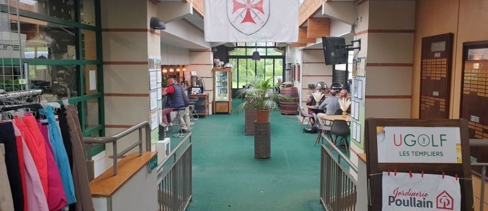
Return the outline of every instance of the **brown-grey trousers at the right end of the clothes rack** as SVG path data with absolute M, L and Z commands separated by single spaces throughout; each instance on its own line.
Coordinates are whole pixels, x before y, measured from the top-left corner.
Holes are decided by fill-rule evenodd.
M 85 163 L 85 150 L 83 134 L 81 133 L 78 110 L 75 105 L 68 105 L 66 118 L 70 129 L 70 139 L 73 147 L 73 184 L 76 195 L 76 211 L 95 210 L 92 201 L 92 193 L 88 181 L 88 171 Z

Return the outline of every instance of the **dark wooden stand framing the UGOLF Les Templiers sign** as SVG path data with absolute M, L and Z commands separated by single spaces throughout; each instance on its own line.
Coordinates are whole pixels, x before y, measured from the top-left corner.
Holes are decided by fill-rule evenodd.
M 425 174 L 442 174 L 449 176 L 459 176 L 461 186 L 461 210 L 472 210 L 473 207 L 473 187 L 471 180 L 471 161 L 470 161 L 470 148 L 468 137 L 468 122 L 465 119 L 438 119 L 438 120 L 425 120 L 425 119 L 375 119 L 369 118 L 366 120 L 365 137 L 366 137 L 366 154 L 367 159 L 367 171 L 370 190 L 370 205 L 368 210 L 382 210 L 382 175 L 384 171 L 409 172 Z M 389 163 L 388 161 L 394 160 L 391 157 L 384 159 L 383 151 L 378 150 L 378 128 L 393 128 L 398 129 L 404 127 L 406 129 L 434 129 L 442 130 L 445 128 L 459 128 L 459 130 L 448 130 L 446 132 L 459 131 L 461 153 L 460 157 L 456 159 L 449 158 L 448 161 L 442 160 L 439 163 L 432 163 L 435 158 L 431 159 L 431 163 L 420 163 L 424 159 L 417 159 L 414 162 L 399 162 L 398 159 L 395 163 Z M 415 127 L 415 128 L 411 128 Z M 401 128 L 400 128 L 401 129 Z M 385 133 L 386 134 L 386 133 Z M 404 136 L 405 137 L 405 136 Z M 388 139 L 386 139 L 388 140 Z M 397 140 L 398 141 L 398 140 Z M 440 145 L 439 139 L 434 142 L 434 139 L 430 142 L 431 145 Z M 419 143 L 419 142 L 418 142 Z M 454 144 L 454 147 L 459 146 Z M 378 155 L 380 152 L 381 155 Z M 379 157 L 380 156 L 380 157 Z M 455 155 L 454 155 L 455 156 Z M 447 158 L 446 158 L 447 159 Z M 428 160 L 428 159 L 426 159 Z M 381 161 L 381 162 L 379 162 Z M 385 162 L 386 161 L 386 162 Z M 459 161 L 459 162 L 458 162 Z

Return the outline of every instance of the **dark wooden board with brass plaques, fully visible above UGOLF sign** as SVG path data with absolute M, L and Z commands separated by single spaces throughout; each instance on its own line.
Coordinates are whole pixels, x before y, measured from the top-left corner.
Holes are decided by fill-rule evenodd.
M 452 33 L 422 38 L 421 119 L 449 118 Z

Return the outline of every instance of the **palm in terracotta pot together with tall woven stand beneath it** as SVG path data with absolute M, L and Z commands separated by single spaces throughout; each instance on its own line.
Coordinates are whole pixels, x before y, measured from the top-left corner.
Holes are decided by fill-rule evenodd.
M 242 112 L 246 109 L 256 109 L 254 131 L 254 157 L 269 158 L 271 156 L 271 137 L 269 112 L 278 110 L 280 101 L 291 101 L 289 96 L 281 95 L 276 90 L 283 84 L 273 84 L 273 78 L 252 78 L 246 88 L 237 91 L 237 98 L 245 99 L 236 109 Z

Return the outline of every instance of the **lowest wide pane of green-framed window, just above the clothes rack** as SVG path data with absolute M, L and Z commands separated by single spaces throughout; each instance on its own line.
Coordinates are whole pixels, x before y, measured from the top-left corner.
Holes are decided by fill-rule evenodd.
M 77 68 L 66 65 L 31 65 L 31 88 L 42 89 L 42 98 L 49 102 L 78 97 Z

